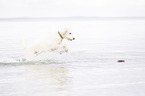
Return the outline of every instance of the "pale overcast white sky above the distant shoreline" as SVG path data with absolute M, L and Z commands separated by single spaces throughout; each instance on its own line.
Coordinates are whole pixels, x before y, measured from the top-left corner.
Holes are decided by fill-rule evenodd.
M 145 0 L 0 0 L 0 18 L 145 16 Z

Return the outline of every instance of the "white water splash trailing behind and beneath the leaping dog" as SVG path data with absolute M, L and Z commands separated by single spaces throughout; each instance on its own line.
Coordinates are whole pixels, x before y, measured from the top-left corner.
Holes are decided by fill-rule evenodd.
M 46 53 L 37 56 L 31 60 L 26 60 L 24 58 L 10 58 L 1 57 L 0 64 L 2 65 L 25 65 L 25 64 L 64 64 L 64 55 L 58 55 L 56 53 Z

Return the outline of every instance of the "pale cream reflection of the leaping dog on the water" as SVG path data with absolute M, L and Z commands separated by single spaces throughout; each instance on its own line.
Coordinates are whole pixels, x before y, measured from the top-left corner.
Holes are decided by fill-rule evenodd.
M 56 94 L 70 89 L 67 64 L 25 65 L 25 67 L 27 93 Z

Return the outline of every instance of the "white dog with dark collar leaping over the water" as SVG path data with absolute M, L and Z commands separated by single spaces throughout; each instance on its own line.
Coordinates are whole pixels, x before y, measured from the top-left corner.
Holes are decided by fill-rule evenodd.
M 41 42 L 37 42 L 36 44 L 31 46 L 26 46 L 26 43 L 23 39 L 22 44 L 26 51 L 26 59 L 30 60 L 41 53 L 55 51 L 58 49 L 61 49 L 60 54 L 64 52 L 68 52 L 67 46 L 62 43 L 63 39 L 67 39 L 69 41 L 75 40 L 71 31 L 68 29 L 64 29 L 63 31 L 58 31 L 53 36 L 50 36 L 45 40 Z

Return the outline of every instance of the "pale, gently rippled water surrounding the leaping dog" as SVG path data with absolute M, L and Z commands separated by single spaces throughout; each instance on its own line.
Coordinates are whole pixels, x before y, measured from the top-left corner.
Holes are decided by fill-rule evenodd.
M 67 26 L 69 53 L 25 60 L 28 45 Z M 0 21 L 0 96 L 144 96 L 145 20 Z M 125 62 L 118 63 L 123 59 Z

